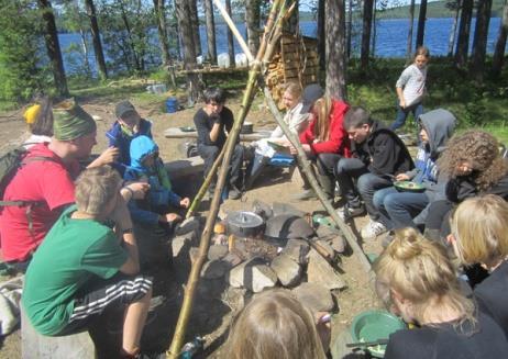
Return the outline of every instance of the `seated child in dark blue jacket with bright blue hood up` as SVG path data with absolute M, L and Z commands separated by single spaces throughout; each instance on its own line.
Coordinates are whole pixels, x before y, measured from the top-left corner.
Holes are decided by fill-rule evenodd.
M 158 157 L 158 146 L 147 136 L 137 136 L 131 142 L 131 166 L 124 180 L 142 181 L 150 184 L 144 200 L 129 202 L 134 222 L 145 225 L 162 225 L 169 228 L 180 217 L 169 213 L 169 207 L 189 206 L 189 199 L 181 198 L 172 190 L 164 164 Z

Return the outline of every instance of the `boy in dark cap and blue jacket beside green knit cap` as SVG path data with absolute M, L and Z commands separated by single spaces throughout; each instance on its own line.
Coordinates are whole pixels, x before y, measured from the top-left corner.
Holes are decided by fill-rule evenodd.
M 137 136 L 148 136 L 152 138 L 152 123 L 142 119 L 134 105 L 129 101 L 122 101 L 114 109 L 117 121 L 111 128 L 106 132 L 109 146 L 117 147 L 120 152 L 117 169 L 121 175 L 131 165 L 129 150 L 131 141 Z

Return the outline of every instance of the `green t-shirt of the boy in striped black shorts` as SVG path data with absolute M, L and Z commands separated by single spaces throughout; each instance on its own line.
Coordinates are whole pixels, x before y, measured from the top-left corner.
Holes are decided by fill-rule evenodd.
M 108 226 L 73 220 L 67 209 L 37 248 L 26 271 L 22 303 L 32 325 L 57 335 L 68 324 L 78 290 L 97 277 L 114 276 L 128 253 Z

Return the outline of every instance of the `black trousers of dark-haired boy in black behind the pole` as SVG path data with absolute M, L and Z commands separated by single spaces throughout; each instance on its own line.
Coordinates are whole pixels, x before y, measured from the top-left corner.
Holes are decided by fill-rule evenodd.
M 207 146 L 198 145 L 198 154 L 205 160 L 205 177 L 210 172 L 213 162 L 216 161 L 217 156 L 219 156 L 221 147 L 218 146 Z M 233 156 L 231 157 L 230 168 L 229 168 L 229 178 L 228 183 L 230 188 L 234 187 L 236 189 L 242 188 L 242 165 L 243 165 L 244 148 L 242 145 L 236 144 L 234 146 Z M 217 176 L 212 179 L 212 184 L 210 188 L 214 187 Z

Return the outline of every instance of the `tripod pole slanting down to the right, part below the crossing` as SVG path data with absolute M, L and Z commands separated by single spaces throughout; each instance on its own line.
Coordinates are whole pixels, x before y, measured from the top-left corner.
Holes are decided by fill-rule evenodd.
M 347 244 L 351 246 L 353 249 L 353 253 L 356 255 L 356 257 L 360 260 L 360 263 L 362 267 L 369 273 L 369 276 L 373 276 L 372 273 L 372 268 L 371 268 L 371 262 L 368 261 L 367 257 L 362 250 L 362 247 L 360 247 L 358 243 L 356 242 L 356 237 L 354 236 L 353 232 L 351 228 L 344 223 L 344 221 L 336 214 L 334 211 L 332 204 L 330 201 L 327 199 L 327 195 L 324 194 L 323 190 L 318 183 L 318 180 L 316 179 L 313 171 L 310 167 L 310 161 L 307 159 L 307 155 L 303 152 L 303 147 L 300 144 L 300 141 L 298 137 L 289 131 L 289 127 L 287 124 L 284 122 L 283 116 L 278 112 L 277 105 L 275 104 L 274 99 L 272 98 L 272 93 L 269 92 L 268 88 L 264 88 L 264 93 L 265 98 L 268 103 L 268 108 L 274 115 L 275 120 L 277 121 L 277 124 L 280 126 L 283 130 L 284 134 L 286 137 L 289 139 L 291 145 L 297 149 L 297 156 L 298 160 L 300 161 L 302 166 L 303 173 L 307 176 L 310 186 L 314 190 L 316 194 L 318 194 L 318 199 L 320 200 L 321 204 L 324 206 L 327 212 L 330 214 L 330 216 L 333 218 L 333 221 L 336 223 L 339 228 L 342 231 L 342 233 L 345 236 L 345 239 L 347 240 Z

